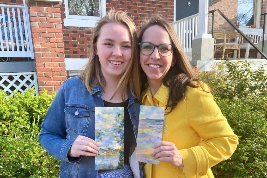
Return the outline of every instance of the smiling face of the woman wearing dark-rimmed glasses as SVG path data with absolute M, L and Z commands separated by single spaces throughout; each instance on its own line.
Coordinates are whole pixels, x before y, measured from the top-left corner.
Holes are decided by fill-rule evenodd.
M 148 27 L 143 34 L 142 42 L 150 42 L 154 45 L 172 44 L 168 32 L 159 25 Z M 173 53 L 170 56 L 160 56 L 158 48 L 155 48 L 154 52 L 148 56 L 140 53 L 140 64 L 147 75 L 148 82 L 162 84 L 163 78 L 173 65 L 172 59 Z

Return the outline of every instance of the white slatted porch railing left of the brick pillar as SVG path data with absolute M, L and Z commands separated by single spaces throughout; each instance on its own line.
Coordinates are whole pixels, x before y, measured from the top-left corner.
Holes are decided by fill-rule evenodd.
M 26 5 L 0 4 L 0 57 L 34 58 Z

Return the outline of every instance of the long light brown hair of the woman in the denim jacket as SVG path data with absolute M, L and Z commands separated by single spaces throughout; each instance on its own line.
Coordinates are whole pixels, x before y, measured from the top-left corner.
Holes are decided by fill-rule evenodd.
M 127 14 L 123 11 L 109 11 L 108 14 L 103 17 L 99 22 L 97 22 L 94 34 L 92 38 L 92 45 L 90 50 L 89 61 L 85 67 L 84 72 L 81 74 L 81 80 L 84 82 L 86 89 L 92 93 L 92 89 L 96 86 L 101 86 L 104 88 L 106 81 L 101 72 L 100 62 L 98 56 L 95 54 L 96 42 L 98 37 L 100 36 L 101 28 L 103 25 L 107 23 L 119 23 L 127 26 L 131 38 L 132 44 L 132 55 L 130 59 L 130 63 L 125 73 L 121 77 L 118 86 L 111 97 L 111 99 L 117 94 L 118 90 L 121 89 L 121 98 L 125 101 L 125 93 L 127 92 L 127 85 L 129 84 L 129 88 L 133 96 L 140 98 L 140 61 L 138 60 L 138 47 L 137 47 L 137 31 L 135 24 L 132 19 L 127 16 Z

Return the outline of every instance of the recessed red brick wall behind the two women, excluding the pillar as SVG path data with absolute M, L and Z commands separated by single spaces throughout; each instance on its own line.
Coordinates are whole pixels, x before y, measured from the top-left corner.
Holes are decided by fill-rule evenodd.
M 174 18 L 174 0 L 106 0 L 106 7 L 107 11 L 111 9 L 126 11 L 138 29 L 143 26 L 145 18 L 151 14 L 161 14 L 170 22 Z M 64 0 L 60 10 L 63 19 L 65 18 Z M 65 58 L 88 58 L 93 28 L 64 26 L 62 31 Z

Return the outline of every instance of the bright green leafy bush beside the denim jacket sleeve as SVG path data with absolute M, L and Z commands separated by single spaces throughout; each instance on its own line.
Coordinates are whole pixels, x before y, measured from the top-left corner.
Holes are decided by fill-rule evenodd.
M 0 177 L 58 177 L 60 161 L 38 142 L 53 95 L 0 91 Z M 35 119 L 37 118 L 37 120 Z

